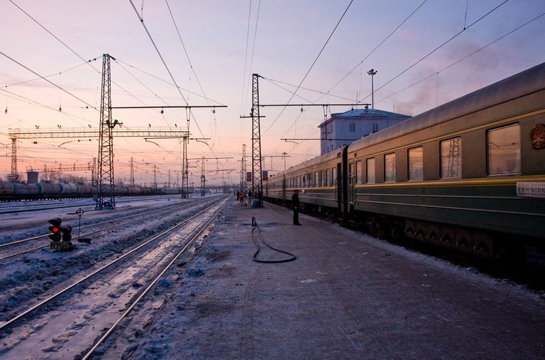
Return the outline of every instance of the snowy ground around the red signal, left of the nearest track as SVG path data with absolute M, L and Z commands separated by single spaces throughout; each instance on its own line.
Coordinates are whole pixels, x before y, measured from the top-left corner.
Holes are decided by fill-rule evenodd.
M 180 199 L 174 196 L 142 198 L 131 202 L 119 201 L 116 210 L 86 211 L 82 225 L 119 218 L 132 213 L 146 213 L 153 208 L 171 206 L 175 203 L 189 203 L 197 199 Z M 84 208 L 82 206 L 82 208 Z M 0 262 L 0 320 L 6 321 L 16 310 L 29 308 L 32 303 L 45 298 L 48 293 L 75 276 L 84 276 L 97 267 L 101 261 L 122 254 L 126 249 L 161 229 L 172 226 L 181 216 L 192 215 L 196 209 L 175 213 L 163 212 L 160 217 L 151 216 L 137 225 L 118 227 L 106 234 L 92 238 L 91 244 L 72 241 L 75 249 L 71 252 L 55 252 L 49 247 L 35 250 L 24 256 L 3 259 Z M 84 208 L 85 209 L 85 208 Z M 69 210 L 40 210 L 30 213 L 0 215 L 0 244 L 26 237 L 48 233 L 51 218 L 61 218 L 63 225 L 72 225 L 72 235 L 77 235 L 78 216 Z M 106 225 L 104 225 L 106 226 Z M 49 244 L 45 237 L 38 244 Z

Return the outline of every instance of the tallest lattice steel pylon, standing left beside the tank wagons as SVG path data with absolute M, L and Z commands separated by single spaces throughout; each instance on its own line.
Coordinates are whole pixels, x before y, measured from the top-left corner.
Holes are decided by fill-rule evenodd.
M 102 61 L 102 86 L 100 96 L 99 165 L 97 171 L 97 205 L 95 210 L 116 208 L 114 194 L 114 144 L 112 130 L 117 120 L 111 119 L 111 74 L 110 55 L 104 54 Z

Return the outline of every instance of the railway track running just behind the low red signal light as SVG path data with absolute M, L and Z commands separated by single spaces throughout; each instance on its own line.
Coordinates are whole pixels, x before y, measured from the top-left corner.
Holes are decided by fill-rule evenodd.
M 198 203 L 200 203 L 200 201 L 197 201 L 196 204 Z M 72 240 L 77 241 L 79 238 L 90 237 L 93 235 L 97 235 L 101 232 L 108 232 L 109 230 L 115 229 L 116 227 L 123 227 L 133 223 L 138 223 L 143 221 L 142 219 L 143 217 L 147 217 L 150 215 L 161 216 L 162 213 L 171 212 L 172 210 L 175 210 L 176 208 L 179 208 L 180 206 L 188 206 L 188 203 L 187 202 L 175 203 L 173 205 L 166 206 L 163 208 L 157 208 L 153 210 L 143 210 L 131 215 L 115 217 L 105 221 L 99 221 L 99 222 L 90 223 L 87 225 L 82 225 L 81 227 L 79 227 L 79 230 L 88 229 L 90 227 L 97 227 L 100 225 L 115 222 L 114 225 L 111 225 L 108 227 L 101 227 L 97 230 L 92 230 L 89 232 L 80 233 L 79 236 L 72 234 Z M 128 220 L 128 221 L 125 221 L 125 220 Z M 74 228 L 72 232 L 74 232 L 74 230 L 76 229 Z M 48 235 L 49 234 L 47 233 L 43 235 L 28 237 L 26 239 L 21 239 L 21 240 L 16 240 L 13 242 L 6 242 L 4 244 L 0 244 L 0 260 L 9 259 L 11 257 L 17 257 L 19 255 L 27 254 L 28 252 L 33 252 L 38 249 L 49 247 Z M 43 245 L 33 246 L 36 240 L 40 240 L 40 242 L 43 242 L 43 240 L 47 240 L 47 243 Z

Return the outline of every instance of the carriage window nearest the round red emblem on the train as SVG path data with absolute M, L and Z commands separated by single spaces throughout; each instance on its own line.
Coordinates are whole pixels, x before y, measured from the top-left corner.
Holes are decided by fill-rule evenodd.
M 520 125 L 488 130 L 488 175 L 520 174 Z

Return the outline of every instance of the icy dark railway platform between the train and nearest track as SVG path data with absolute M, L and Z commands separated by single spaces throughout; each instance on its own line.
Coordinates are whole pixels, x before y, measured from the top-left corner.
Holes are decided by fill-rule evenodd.
M 294 261 L 253 261 L 252 218 Z M 265 203 L 229 204 L 129 357 L 544 359 L 545 297 Z M 260 252 L 265 259 L 285 254 Z M 174 358 L 172 357 L 172 358 Z

